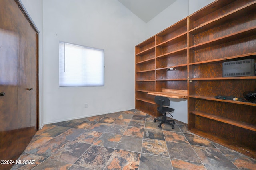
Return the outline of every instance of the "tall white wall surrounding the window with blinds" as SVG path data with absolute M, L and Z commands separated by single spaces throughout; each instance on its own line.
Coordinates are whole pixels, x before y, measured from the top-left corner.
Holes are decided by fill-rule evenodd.
M 117 0 L 44 0 L 44 123 L 134 109 L 146 24 Z M 59 41 L 104 49 L 104 87 L 59 87 Z M 88 104 L 88 108 L 84 108 Z

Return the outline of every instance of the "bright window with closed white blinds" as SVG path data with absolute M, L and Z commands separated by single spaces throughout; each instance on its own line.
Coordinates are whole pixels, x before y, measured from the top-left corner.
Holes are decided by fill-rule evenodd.
M 59 42 L 59 86 L 104 86 L 104 50 Z

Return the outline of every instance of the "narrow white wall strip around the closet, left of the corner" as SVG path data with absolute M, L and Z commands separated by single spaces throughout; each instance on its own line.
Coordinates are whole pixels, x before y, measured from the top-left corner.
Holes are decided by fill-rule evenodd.
M 43 94 L 43 3 L 42 0 L 21 0 L 27 13 L 36 25 L 38 34 L 38 60 L 39 60 L 39 127 L 44 120 L 44 94 Z

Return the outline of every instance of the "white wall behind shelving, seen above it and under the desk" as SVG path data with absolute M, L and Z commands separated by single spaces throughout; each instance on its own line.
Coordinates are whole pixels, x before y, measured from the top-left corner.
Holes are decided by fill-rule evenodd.
M 147 23 L 147 38 L 156 35 L 213 1 L 214 0 L 176 0 L 172 5 Z M 173 118 L 188 123 L 188 101 L 186 99 L 170 98 L 170 102 L 169 107 L 175 109 L 172 113 Z

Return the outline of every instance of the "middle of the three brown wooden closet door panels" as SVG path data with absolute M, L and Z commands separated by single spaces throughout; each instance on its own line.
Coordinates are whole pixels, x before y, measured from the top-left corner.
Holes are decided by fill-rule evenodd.
M 30 23 L 18 18 L 18 152 L 30 142 Z

